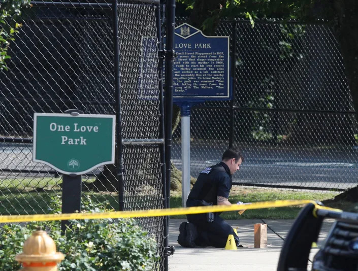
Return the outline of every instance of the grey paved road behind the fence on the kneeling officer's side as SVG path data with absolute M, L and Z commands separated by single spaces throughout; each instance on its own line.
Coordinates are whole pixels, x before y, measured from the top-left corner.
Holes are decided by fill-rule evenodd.
M 220 159 L 225 145 L 190 146 L 190 174 L 197 177 L 202 168 Z M 173 162 L 181 169 L 181 146 L 173 144 Z M 357 185 L 358 150 L 243 148 L 245 161 L 234 182 L 294 185 L 320 188 L 349 188 Z

